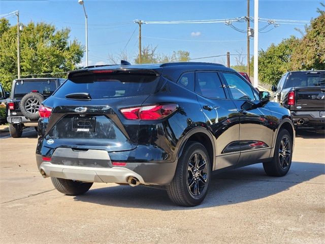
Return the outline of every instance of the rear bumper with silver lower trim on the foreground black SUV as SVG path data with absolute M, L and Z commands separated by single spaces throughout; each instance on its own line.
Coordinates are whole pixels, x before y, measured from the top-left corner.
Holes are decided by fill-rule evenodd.
M 44 177 L 57 177 L 86 182 L 105 182 L 126 184 L 129 177 L 136 177 L 143 185 L 168 185 L 172 181 L 177 161 L 173 163 L 127 163 L 125 167 L 84 167 L 54 164 L 43 161 L 36 155 L 40 172 Z M 109 160 L 110 161 L 110 160 Z

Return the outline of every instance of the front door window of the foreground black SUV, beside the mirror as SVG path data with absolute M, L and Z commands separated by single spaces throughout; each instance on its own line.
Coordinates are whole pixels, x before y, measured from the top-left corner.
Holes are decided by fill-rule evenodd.
M 256 100 L 253 90 L 242 78 L 233 73 L 222 73 L 234 99 Z

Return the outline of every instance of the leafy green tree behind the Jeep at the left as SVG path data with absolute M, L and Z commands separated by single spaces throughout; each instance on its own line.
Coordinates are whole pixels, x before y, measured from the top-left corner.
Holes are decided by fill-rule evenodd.
M 84 47 L 75 39 L 69 41 L 70 29 L 57 30 L 54 25 L 30 22 L 20 32 L 21 77 L 29 74 L 67 72 L 81 62 Z M 0 78 L 6 90 L 17 78 L 17 25 L 0 20 Z M 45 75 L 47 77 L 65 74 Z M 38 77 L 44 77 L 39 75 Z

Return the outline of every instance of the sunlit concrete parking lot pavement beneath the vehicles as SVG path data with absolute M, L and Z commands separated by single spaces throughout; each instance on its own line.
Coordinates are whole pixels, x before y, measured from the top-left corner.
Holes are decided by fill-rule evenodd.
M 289 173 L 253 165 L 213 176 L 203 204 L 146 187 L 94 184 L 64 196 L 35 162 L 37 133 L 0 131 L 1 243 L 324 243 L 325 138 L 299 131 Z

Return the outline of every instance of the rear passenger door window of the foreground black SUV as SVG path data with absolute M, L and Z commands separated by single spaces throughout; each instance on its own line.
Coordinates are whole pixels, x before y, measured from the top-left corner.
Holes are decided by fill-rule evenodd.
M 217 73 L 197 72 L 196 92 L 207 98 L 225 98 L 223 86 Z

